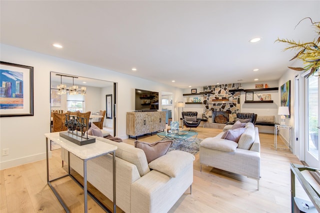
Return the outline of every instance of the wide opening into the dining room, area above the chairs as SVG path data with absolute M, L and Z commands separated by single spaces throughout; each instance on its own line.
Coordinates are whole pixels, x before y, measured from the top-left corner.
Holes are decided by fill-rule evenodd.
M 66 85 L 66 94 L 57 94 L 57 85 L 60 84 Z M 78 88 L 84 86 L 86 88 L 85 95 L 70 95 L 68 88 L 71 85 L 77 85 Z M 114 82 L 51 71 L 50 111 L 52 112 L 53 110 L 56 110 L 58 112 L 66 112 L 68 110 L 71 111 L 76 108 L 77 110 L 82 112 L 90 111 L 92 114 L 99 112 L 100 110 L 107 110 L 105 95 L 111 94 L 114 103 L 114 105 L 112 105 L 112 111 L 115 112 L 115 91 L 116 83 Z M 105 116 L 103 119 L 103 130 L 109 132 L 112 136 L 114 136 L 115 123 L 115 113 L 112 113 L 112 116 L 108 118 L 106 118 Z

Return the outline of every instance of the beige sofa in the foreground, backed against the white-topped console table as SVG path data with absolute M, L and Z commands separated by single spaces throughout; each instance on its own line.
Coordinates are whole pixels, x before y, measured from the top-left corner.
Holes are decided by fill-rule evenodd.
M 115 155 L 116 205 L 125 212 L 167 212 L 193 181 L 194 156 L 170 151 L 149 164 L 142 149 L 102 137 L 96 139 L 117 146 Z M 67 152 L 61 150 L 67 162 Z M 70 154 L 70 166 L 83 176 L 82 161 Z M 112 157 L 87 161 L 87 180 L 110 200 L 112 194 Z M 153 169 L 150 169 L 153 168 Z

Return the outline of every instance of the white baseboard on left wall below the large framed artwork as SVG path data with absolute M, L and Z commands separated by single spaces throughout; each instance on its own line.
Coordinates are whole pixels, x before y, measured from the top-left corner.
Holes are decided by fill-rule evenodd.
M 51 151 L 48 152 L 48 156 L 51 157 Z M 16 158 L 16 159 L 11 159 L 7 161 L 2 161 L 0 162 L 0 170 L 6 169 L 6 168 L 11 168 L 14 166 L 18 165 L 23 165 L 26 163 L 38 161 L 38 160 L 43 160 L 46 158 L 46 153 L 39 153 L 39 154 L 34 154 L 34 155 L 29 155 L 21 158 Z

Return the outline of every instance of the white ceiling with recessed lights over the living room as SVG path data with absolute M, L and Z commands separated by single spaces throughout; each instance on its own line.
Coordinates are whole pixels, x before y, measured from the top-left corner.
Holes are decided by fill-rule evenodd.
M 304 17 L 320 21 L 320 0 L 1 0 L 0 41 L 181 88 L 263 82 L 292 65 L 277 37 L 316 37 L 308 20 L 295 28 Z

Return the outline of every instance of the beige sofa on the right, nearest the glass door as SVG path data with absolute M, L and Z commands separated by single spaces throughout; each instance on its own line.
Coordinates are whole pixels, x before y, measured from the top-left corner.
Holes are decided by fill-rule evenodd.
M 199 145 L 200 171 L 202 164 L 225 171 L 260 179 L 260 139 L 258 128 L 253 123 L 247 123 L 246 129 L 236 143 L 221 139 L 223 131 L 215 137 L 208 137 Z M 226 130 L 226 129 L 224 129 Z

